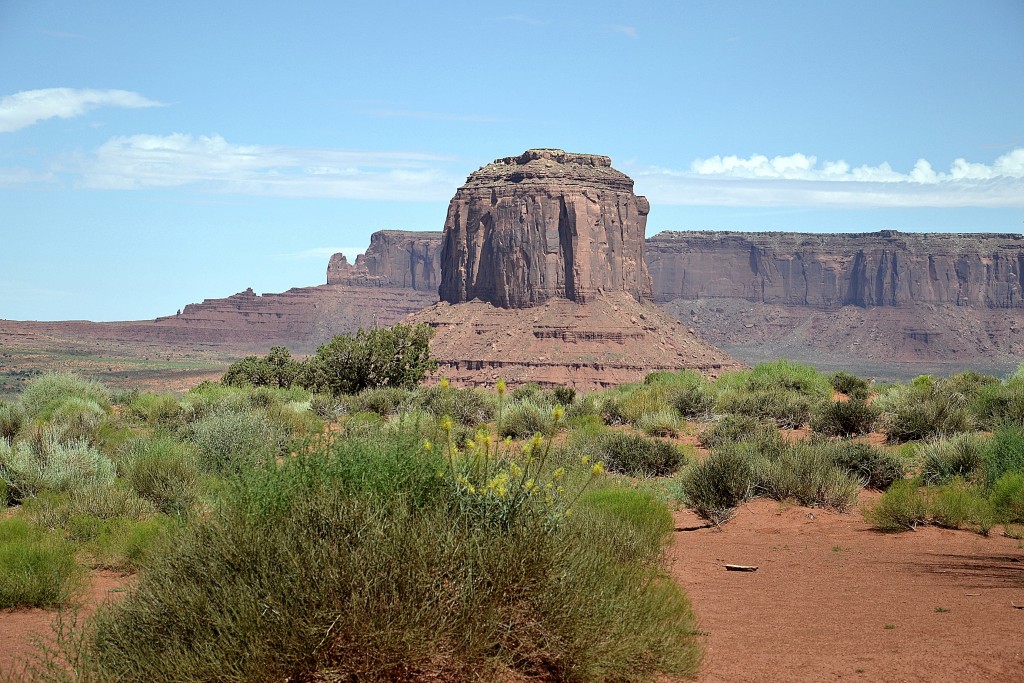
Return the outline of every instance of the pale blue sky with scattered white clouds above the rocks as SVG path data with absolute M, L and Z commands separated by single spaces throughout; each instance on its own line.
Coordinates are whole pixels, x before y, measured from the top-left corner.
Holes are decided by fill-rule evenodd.
M 326 282 L 530 147 L 666 229 L 1024 230 L 1024 2 L 0 0 L 0 318 Z

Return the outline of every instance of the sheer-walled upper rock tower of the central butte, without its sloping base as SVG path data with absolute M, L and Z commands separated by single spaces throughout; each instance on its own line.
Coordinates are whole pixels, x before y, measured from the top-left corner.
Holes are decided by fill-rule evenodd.
M 449 205 L 440 298 L 525 308 L 599 292 L 651 296 L 650 205 L 611 160 L 528 150 L 472 173 Z

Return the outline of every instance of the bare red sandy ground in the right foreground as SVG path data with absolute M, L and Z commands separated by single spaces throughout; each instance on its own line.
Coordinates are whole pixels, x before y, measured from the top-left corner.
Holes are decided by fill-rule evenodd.
M 676 524 L 669 565 L 705 633 L 700 683 L 1024 681 L 1012 606 L 1024 605 L 1024 544 L 998 530 L 885 535 L 859 511 L 774 501 L 717 529 L 688 510 Z

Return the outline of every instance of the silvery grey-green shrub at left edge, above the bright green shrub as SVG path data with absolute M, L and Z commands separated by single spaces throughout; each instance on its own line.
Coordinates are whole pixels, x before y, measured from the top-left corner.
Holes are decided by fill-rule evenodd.
M 115 475 L 111 459 L 86 441 L 63 443 L 49 430 L 14 445 L 0 439 L 0 479 L 15 503 L 43 490 L 111 484 Z

